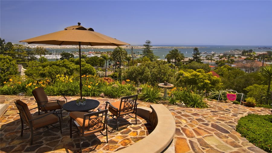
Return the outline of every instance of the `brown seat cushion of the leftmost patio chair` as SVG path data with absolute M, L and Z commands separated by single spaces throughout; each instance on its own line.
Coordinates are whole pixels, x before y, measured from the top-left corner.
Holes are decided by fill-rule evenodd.
M 50 125 L 50 124 L 53 124 L 53 123 L 56 123 L 56 122 L 59 121 L 59 118 L 54 114 L 50 114 L 48 116 L 45 116 L 45 115 L 47 115 L 47 113 L 33 117 L 33 119 L 36 119 L 38 117 L 44 116 L 44 117 L 42 117 L 40 119 L 32 121 L 33 129 L 37 129 L 37 128 L 40 128 L 40 127 L 43 127 L 43 126 L 47 126 L 47 125 Z

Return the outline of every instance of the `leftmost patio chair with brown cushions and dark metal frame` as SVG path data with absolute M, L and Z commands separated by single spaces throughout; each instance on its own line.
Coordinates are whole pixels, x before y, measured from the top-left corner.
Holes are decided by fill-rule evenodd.
M 54 128 L 60 129 L 60 133 L 62 133 L 60 117 L 57 115 L 54 115 L 53 112 L 38 115 L 38 116 L 32 116 L 30 113 L 30 110 L 28 109 L 27 104 L 25 104 L 21 100 L 16 100 L 16 102 L 14 102 L 14 103 L 15 103 L 17 109 L 19 110 L 18 114 L 20 115 L 20 119 L 21 119 L 21 136 L 23 136 L 24 130 L 30 128 L 30 131 L 31 131 L 30 145 L 33 144 L 33 136 L 35 136 L 33 134 L 33 130 L 40 129 L 43 127 L 47 128 L 46 131 L 39 132 L 36 135 L 47 132 L 47 131 L 54 129 Z M 40 107 L 42 107 L 42 106 L 40 106 Z M 37 107 L 32 108 L 31 110 L 36 109 L 36 108 Z M 57 122 L 60 122 L 60 126 L 53 126 L 53 124 L 57 123 Z M 24 129 L 24 124 L 29 126 L 29 128 Z M 50 125 L 53 127 L 49 128 Z

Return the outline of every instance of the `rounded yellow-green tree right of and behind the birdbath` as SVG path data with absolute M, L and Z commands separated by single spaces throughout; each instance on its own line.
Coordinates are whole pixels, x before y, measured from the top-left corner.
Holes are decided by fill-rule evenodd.
M 194 91 L 218 90 L 222 87 L 220 78 L 214 77 L 212 73 L 206 73 L 202 69 L 179 71 L 178 84 L 182 87 L 194 89 Z

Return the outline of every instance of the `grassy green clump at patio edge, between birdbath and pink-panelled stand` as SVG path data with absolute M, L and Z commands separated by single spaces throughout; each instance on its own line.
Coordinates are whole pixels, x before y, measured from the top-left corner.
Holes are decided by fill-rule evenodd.
M 203 97 L 198 94 L 190 94 L 189 97 L 187 97 L 186 100 L 186 105 L 188 107 L 193 107 L 193 108 L 207 108 L 208 105 L 206 104 L 205 101 L 203 101 Z

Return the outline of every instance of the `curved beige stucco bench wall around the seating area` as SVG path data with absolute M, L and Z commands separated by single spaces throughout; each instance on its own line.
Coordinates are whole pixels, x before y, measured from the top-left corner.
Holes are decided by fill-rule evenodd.
M 155 129 L 147 137 L 118 153 L 162 152 L 172 142 L 175 136 L 176 123 L 170 111 L 163 104 L 153 104 L 148 107 L 138 107 L 137 115 L 148 119 Z

